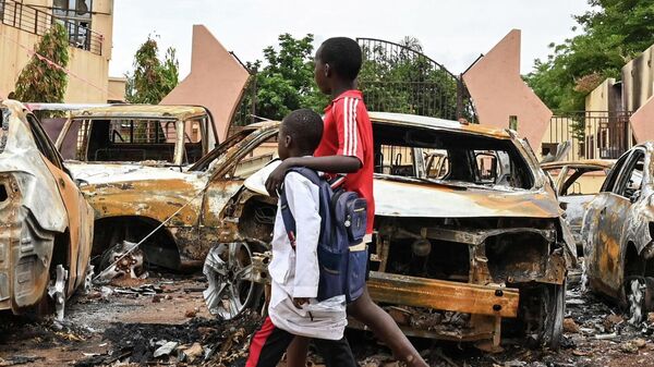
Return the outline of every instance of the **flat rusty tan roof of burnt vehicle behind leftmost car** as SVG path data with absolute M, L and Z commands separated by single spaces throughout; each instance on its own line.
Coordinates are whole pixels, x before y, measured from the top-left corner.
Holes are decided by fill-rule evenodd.
M 73 118 L 189 118 L 207 114 L 202 106 L 162 106 L 162 105 L 111 105 L 93 107 L 71 112 Z

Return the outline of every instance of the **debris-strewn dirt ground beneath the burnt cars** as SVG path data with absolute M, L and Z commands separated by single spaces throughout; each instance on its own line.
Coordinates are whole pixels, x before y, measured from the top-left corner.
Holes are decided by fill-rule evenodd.
M 202 274 L 152 273 L 143 281 L 99 286 L 69 301 L 63 323 L 0 316 L 0 366 L 244 366 L 247 337 L 259 322 L 250 313 L 230 322 L 213 318 Z M 432 366 L 654 366 L 654 315 L 630 326 L 617 308 L 571 286 L 566 334 L 558 352 L 504 340 L 505 352 L 413 340 Z M 349 331 L 361 366 L 400 366 L 372 334 Z M 156 351 L 170 350 L 155 357 Z M 157 353 L 158 354 L 158 353 Z M 320 365 L 311 355 L 312 365 Z

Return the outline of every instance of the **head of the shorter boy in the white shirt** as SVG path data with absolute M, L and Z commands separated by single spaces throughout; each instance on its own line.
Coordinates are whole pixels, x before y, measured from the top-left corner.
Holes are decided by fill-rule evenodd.
M 293 138 L 294 144 L 303 151 L 314 150 L 323 138 L 323 119 L 307 108 L 294 110 L 283 118 L 281 129 Z

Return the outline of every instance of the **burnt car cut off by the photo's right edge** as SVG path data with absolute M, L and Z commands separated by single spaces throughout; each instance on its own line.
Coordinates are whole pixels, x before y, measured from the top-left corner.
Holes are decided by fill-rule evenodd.
M 622 155 L 583 219 L 590 288 L 628 307 L 632 322 L 654 310 L 654 143 Z

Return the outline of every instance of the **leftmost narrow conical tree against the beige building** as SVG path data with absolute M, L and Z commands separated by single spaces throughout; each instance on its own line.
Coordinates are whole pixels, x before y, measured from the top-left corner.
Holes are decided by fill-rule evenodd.
M 23 68 L 16 81 L 15 98 L 25 102 L 63 102 L 68 84 L 63 69 L 69 62 L 65 28 L 53 23 L 35 48 L 37 54 Z M 57 65 L 41 60 L 39 56 Z

